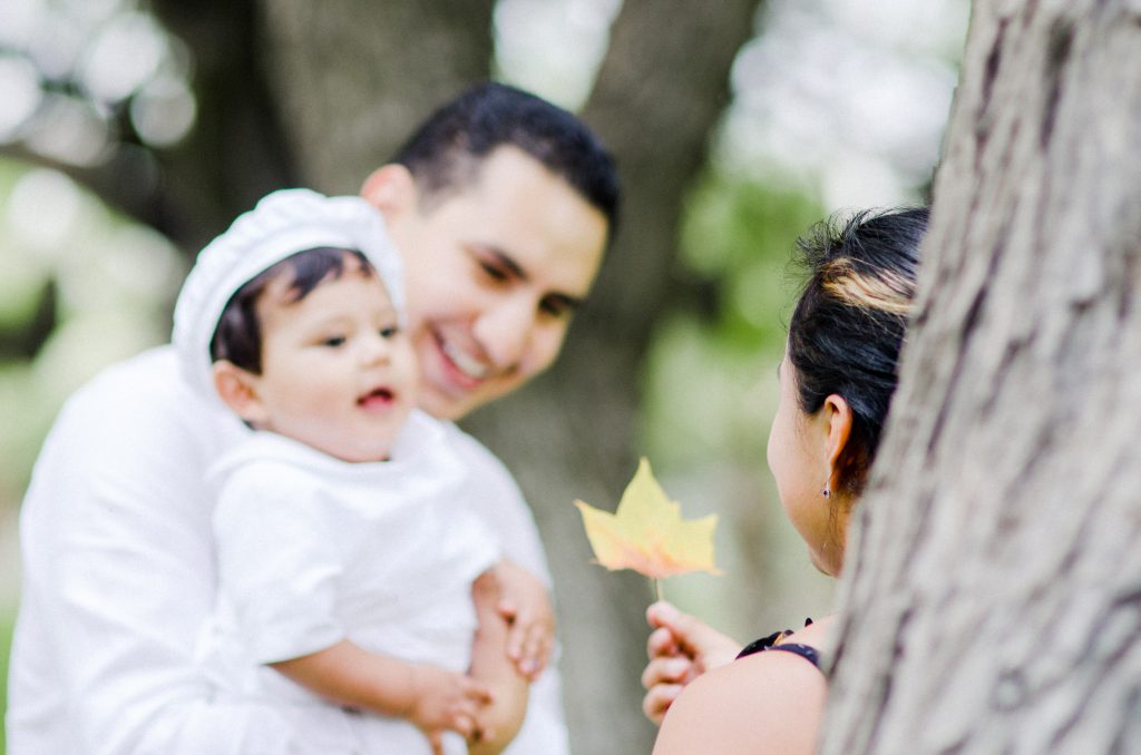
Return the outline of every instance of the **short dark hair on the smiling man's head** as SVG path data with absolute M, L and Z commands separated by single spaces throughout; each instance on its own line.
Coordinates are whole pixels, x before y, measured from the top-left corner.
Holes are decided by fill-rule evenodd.
M 618 176 L 577 116 L 507 84 L 478 84 L 436 111 L 389 162 L 408 169 L 429 202 L 475 180 L 496 147 L 524 151 L 569 184 L 607 220 L 618 219 Z

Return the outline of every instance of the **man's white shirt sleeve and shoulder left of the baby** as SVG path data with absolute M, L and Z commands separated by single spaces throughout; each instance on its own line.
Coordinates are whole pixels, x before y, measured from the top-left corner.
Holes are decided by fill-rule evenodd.
M 63 409 L 21 514 L 11 752 L 292 752 L 286 720 L 211 703 L 194 661 L 215 598 L 202 480 L 224 419 L 181 387 L 169 348 L 104 373 Z

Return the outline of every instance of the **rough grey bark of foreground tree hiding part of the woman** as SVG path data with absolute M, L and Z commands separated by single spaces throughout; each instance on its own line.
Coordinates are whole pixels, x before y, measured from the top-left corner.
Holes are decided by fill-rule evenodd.
M 824 753 L 1141 752 L 1141 6 L 974 6 Z

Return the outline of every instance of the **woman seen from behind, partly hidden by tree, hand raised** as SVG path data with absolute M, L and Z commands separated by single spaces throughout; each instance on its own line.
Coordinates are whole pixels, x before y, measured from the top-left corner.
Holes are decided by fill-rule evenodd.
M 831 576 L 896 388 L 926 221 L 926 209 L 861 213 L 798 243 L 808 281 L 788 324 L 768 463 L 809 557 Z M 662 724 L 655 755 L 816 752 L 828 618 L 744 650 L 669 603 L 647 618 L 656 628 L 642 708 Z

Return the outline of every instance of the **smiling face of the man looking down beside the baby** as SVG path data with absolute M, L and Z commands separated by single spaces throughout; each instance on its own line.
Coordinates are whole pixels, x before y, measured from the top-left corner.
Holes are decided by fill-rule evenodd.
M 607 222 L 515 147 L 493 152 L 461 189 L 416 204 L 381 209 L 405 259 L 420 406 L 455 420 L 555 360 L 594 282 Z

